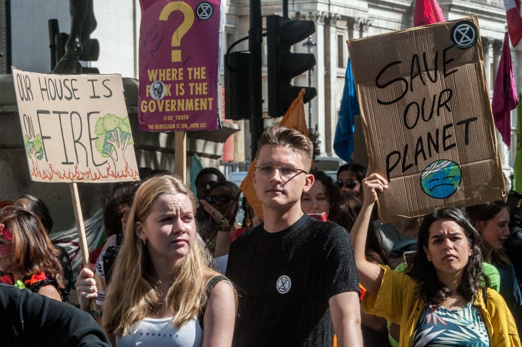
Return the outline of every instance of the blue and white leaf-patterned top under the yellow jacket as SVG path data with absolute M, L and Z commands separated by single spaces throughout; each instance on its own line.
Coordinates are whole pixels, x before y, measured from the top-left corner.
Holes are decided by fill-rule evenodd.
M 413 334 L 413 347 L 489 347 L 488 331 L 480 312 L 470 301 L 460 309 L 426 305 Z

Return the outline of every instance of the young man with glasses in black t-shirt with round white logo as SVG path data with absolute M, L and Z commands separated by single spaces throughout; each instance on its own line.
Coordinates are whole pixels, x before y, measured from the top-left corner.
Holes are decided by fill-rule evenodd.
M 271 127 L 258 142 L 253 174 L 264 223 L 230 248 L 227 276 L 238 286 L 233 345 L 362 346 L 359 279 L 348 232 L 301 210 L 314 183 L 312 142 Z

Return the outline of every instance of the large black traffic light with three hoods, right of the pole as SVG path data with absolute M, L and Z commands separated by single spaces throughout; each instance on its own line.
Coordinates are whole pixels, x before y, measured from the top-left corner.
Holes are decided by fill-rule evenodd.
M 311 20 L 291 20 L 276 15 L 266 17 L 268 115 L 280 117 L 305 89 L 303 100 L 309 102 L 317 95 L 311 87 L 292 86 L 292 78 L 310 70 L 315 65 L 311 53 L 292 53 L 290 47 L 315 32 Z

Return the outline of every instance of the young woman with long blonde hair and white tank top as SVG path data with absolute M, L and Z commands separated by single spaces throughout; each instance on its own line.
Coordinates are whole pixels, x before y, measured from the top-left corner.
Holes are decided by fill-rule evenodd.
M 195 210 L 177 177 L 155 176 L 138 189 L 103 311 L 113 346 L 232 344 L 235 291 L 210 268 Z

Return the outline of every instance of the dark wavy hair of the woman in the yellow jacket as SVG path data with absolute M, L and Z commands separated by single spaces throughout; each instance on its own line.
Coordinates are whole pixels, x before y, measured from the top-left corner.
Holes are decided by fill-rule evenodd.
M 418 295 L 425 303 L 438 305 L 450 295 L 449 289 L 438 279 L 436 269 L 433 263 L 428 260 L 424 251 L 424 247 L 428 248 L 430 226 L 439 220 L 457 223 L 464 231 L 468 240 L 471 255 L 462 272 L 457 290 L 467 301 L 471 301 L 478 291 L 488 287 L 490 282 L 488 276 L 484 273 L 482 265 L 481 237 L 478 231 L 471 225 L 466 214 L 459 209 L 442 208 L 424 217 L 419 230 L 417 254 L 413 260 L 413 267 L 408 274 L 420 283 Z

